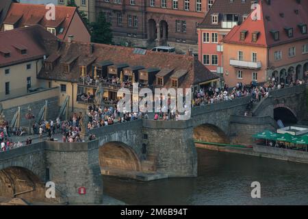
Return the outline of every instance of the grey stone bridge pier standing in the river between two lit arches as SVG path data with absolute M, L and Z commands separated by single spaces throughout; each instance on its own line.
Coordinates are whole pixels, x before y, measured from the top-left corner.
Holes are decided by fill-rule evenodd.
M 169 177 L 197 176 L 192 129 L 186 121 L 144 120 L 143 133 L 148 138 L 146 155 L 156 157 L 157 172 Z

